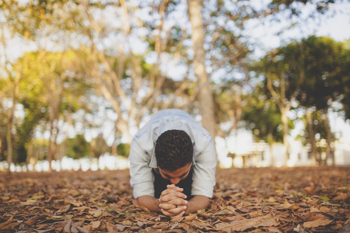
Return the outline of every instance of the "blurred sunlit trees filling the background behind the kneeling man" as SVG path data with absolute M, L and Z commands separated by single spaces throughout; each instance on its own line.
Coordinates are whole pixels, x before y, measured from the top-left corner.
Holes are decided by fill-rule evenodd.
M 173 107 L 217 137 L 283 142 L 284 165 L 304 125 L 312 159 L 335 164 L 329 117 L 350 118 L 349 41 L 304 36 L 256 55 L 248 31 L 284 20 L 280 35 L 337 3 L 2 0 L 0 160 L 127 157 L 149 115 Z

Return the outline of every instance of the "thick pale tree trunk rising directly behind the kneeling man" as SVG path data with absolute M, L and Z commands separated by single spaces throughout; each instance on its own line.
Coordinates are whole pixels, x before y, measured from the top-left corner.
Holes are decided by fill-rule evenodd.
M 214 103 L 208 74 L 205 70 L 204 33 L 202 28 L 201 1 L 187 0 L 188 15 L 192 26 L 191 39 L 193 42 L 193 67 L 198 79 L 199 110 L 202 115 L 203 126 L 215 138 Z

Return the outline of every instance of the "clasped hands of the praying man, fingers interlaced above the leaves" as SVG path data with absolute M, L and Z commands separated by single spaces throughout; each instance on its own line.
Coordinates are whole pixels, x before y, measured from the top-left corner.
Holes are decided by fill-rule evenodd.
M 166 189 L 160 193 L 159 207 L 166 216 L 182 216 L 187 208 L 187 196 L 182 193 L 183 188 L 175 184 L 166 185 Z

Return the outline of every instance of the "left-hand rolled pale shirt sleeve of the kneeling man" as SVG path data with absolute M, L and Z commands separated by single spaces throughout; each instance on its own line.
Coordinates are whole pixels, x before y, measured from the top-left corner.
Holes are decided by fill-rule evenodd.
M 133 197 L 142 195 L 154 196 L 154 175 L 148 165 L 150 155 L 142 150 L 136 139 L 130 145 L 130 184 L 133 188 Z

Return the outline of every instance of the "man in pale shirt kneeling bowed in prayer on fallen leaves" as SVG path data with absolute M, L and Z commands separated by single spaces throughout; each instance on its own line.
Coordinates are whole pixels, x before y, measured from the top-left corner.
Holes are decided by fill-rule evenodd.
M 137 202 L 167 216 L 209 205 L 216 157 L 210 134 L 189 114 L 165 109 L 134 135 L 130 183 Z

